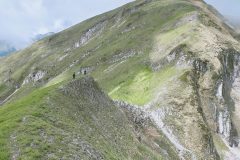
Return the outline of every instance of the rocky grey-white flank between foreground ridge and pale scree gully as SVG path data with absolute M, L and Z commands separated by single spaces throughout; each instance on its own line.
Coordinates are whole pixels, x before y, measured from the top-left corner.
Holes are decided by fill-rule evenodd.
M 116 100 L 114 103 L 126 114 L 139 142 L 154 146 L 154 150 L 157 150 L 165 159 L 180 158 L 178 157 L 179 148 L 172 141 L 174 137 L 168 137 L 165 130 L 159 126 L 159 121 L 155 119 L 155 111 L 148 110 L 148 106 L 132 105 L 124 101 Z

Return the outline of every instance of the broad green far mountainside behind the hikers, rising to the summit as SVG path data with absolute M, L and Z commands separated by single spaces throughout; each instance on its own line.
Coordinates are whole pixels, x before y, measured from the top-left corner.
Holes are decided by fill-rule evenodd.
M 134 86 L 131 87 L 132 91 L 128 91 L 126 90 L 127 86 L 142 72 L 148 72 L 148 78 L 156 77 L 152 81 L 157 80 L 157 75 L 161 73 L 153 73 L 149 66 L 149 54 L 155 40 L 154 35 L 161 33 L 161 29 L 166 30 L 166 24 L 175 23 L 180 17 L 193 10 L 195 8 L 185 1 L 164 0 L 151 3 L 137 1 L 37 42 L 21 53 L 6 58 L 1 63 L 0 97 L 4 99 L 13 92 L 16 83 L 21 84 L 28 73 L 37 70 L 48 72 L 45 81 L 67 70 L 50 82 L 53 84 L 71 77 L 73 71 L 78 71 L 81 66 L 93 66 L 95 70 L 92 75 L 106 92 L 112 93 L 116 87 L 122 86 L 124 83 L 125 87 L 119 91 L 126 94 L 122 94 L 122 96 L 118 93 L 111 94 L 112 98 L 145 104 L 152 98 L 155 87 L 145 84 L 146 88 L 149 88 L 148 95 L 146 95 L 146 99 L 139 101 L 142 95 L 128 94 L 128 92 L 138 91 L 134 89 Z M 106 26 L 99 36 L 94 37 L 86 45 L 73 49 L 63 61 L 58 61 L 66 54 L 64 50 L 72 47 L 84 31 L 102 21 L 106 21 Z M 171 30 L 171 28 L 168 29 Z M 94 48 L 95 50 L 93 50 Z M 114 56 L 121 53 L 127 54 L 129 51 L 135 52 L 135 55 L 111 62 Z M 90 53 L 90 55 L 82 58 L 86 53 Z M 79 61 L 70 68 L 69 65 L 76 60 Z M 114 69 L 106 71 L 111 66 L 115 66 Z M 13 71 L 11 75 L 13 82 L 6 83 L 4 80 L 7 79 L 6 74 L 10 69 Z M 158 78 L 162 79 L 163 77 Z

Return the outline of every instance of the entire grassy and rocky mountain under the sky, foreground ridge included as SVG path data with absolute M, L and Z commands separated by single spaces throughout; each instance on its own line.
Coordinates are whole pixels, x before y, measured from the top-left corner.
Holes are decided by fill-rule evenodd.
M 0 59 L 0 157 L 239 159 L 235 37 L 202 0 L 138 0 Z

